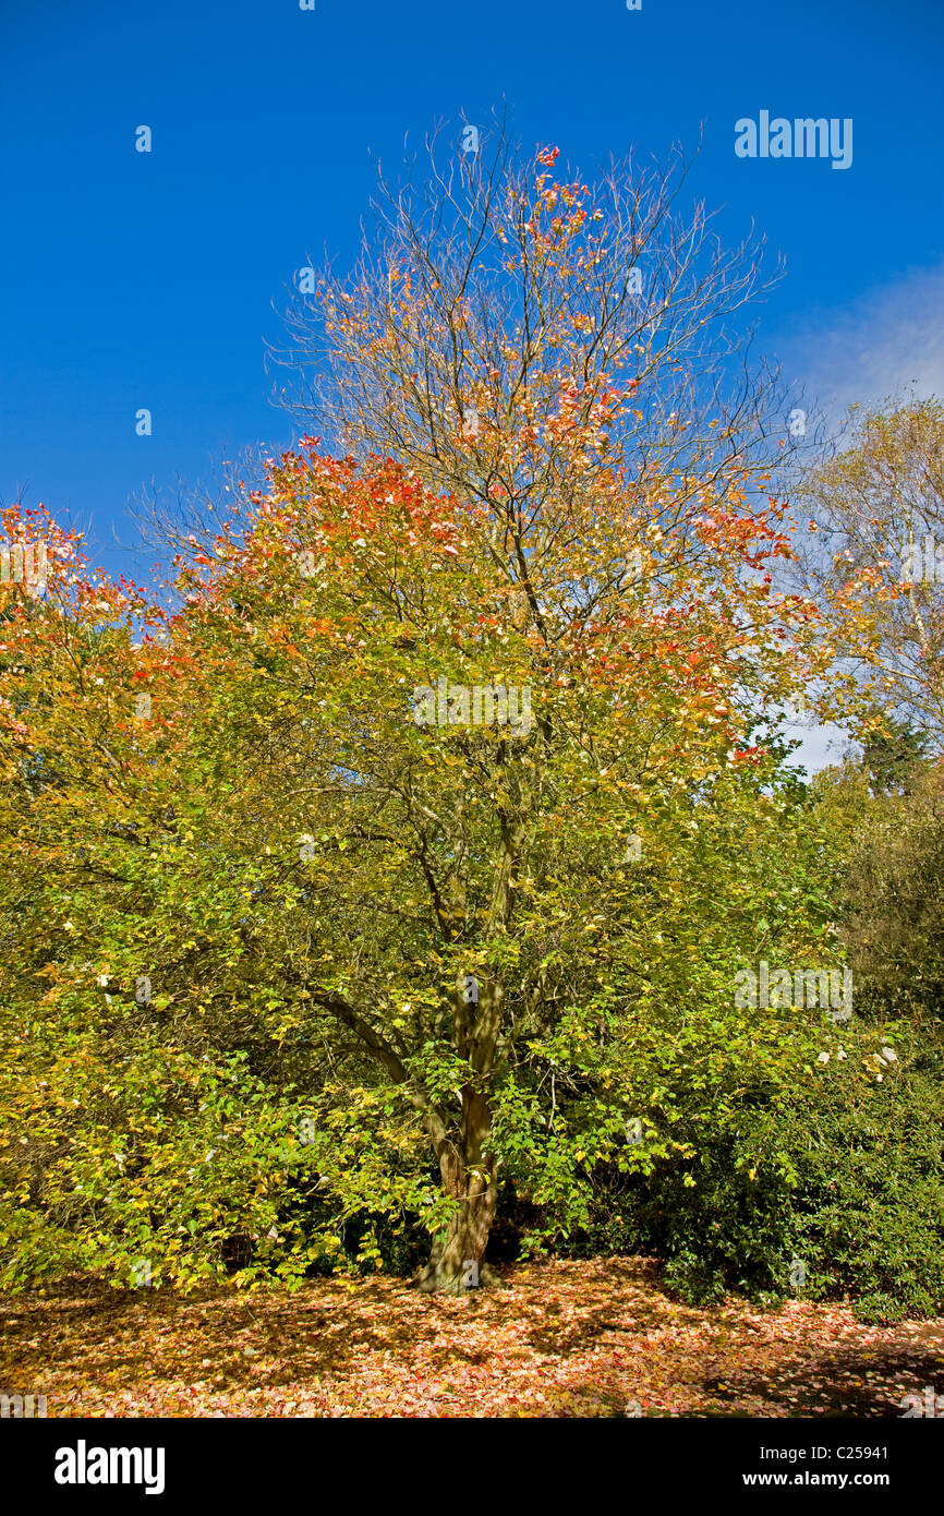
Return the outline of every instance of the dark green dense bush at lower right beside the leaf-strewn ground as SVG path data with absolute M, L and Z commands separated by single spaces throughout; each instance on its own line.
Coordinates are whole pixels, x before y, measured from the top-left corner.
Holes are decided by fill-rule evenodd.
M 694 1164 L 597 1172 L 591 1223 L 568 1251 L 652 1254 L 697 1305 L 736 1290 L 849 1296 L 864 1320 L 942 1313 L 941 1040 L 856 1023 L 832 1041 L 802 1093 L 746 1108 L 738 1132 L 677 1131 L 697 1135 Z

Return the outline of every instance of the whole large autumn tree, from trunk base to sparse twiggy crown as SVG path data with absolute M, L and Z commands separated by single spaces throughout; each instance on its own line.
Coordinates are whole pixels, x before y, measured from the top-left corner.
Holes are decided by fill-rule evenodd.
M 11 623 L 20 1257 L 150 1248 L 186 1281 L 239 1233 L 289 1275 L 338 1222 L 409 1214 L 418 1283 L 458 1292 L 503 1175 L 568 1229 L 594 1164 L 692 1160 L 679 1082 L 736 1122 L 802 1076 L 811 1017 L 733 1004 L 758 948 L 824 941 L 771 869 L 789 782 L 752 740 L 821 667 L 818 620 L 773 588 L 756 391 L 723 409 L 727 340 L 700 346 L 753 274 L 692 283 L 668 236 L 636 312 L 665 199 L 595 203 L 555 159 L 456 170 L 459 273 L 408 223 L 386 303 L 327 291 L 361 456 L 273 459 L 179 564 L 165 649 L 133 641 L 150 599 L 85 572 Z

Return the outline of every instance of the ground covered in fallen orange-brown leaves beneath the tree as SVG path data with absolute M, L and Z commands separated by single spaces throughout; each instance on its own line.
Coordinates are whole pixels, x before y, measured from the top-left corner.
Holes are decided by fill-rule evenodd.
M 389 1278 L 2 1299 L 0 1390 L 48 1416 L 902 1416 L 944 1367 L 944 1320 L 694 1310 L 644 1260 L 500 1273 L 461 1299 Z

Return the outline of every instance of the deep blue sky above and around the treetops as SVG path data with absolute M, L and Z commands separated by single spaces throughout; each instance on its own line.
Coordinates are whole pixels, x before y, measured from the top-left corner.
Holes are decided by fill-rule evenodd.
M 152 479 L 289 443 L 273 300 L 306 253 L 352 261 L 376 159 L 502 100 L 585 174 L 705 123 L 691 196 L 786 258 L 761 349 L 842 402 L 944 393 L 941 0 L 315 3 L 0 5 L 0 500 L 91 522 L 112 572 L 147 575 L 114 534 Z M 852 117 L 852 167 L 736 158 L 761 109 Z

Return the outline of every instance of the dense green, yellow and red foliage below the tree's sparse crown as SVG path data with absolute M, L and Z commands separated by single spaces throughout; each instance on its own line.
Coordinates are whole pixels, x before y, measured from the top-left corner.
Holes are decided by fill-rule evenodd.
M 732 747 L 755 699 L 736 685 L 788 678 L 779 652 L 726 667 L 720 640 L 742 634 L 724 579 L 708 597 L 689 567 L 668 622 L 620 587 L 612 626 L 555 611 L 541 584 L 561 626 L 549 667 L 545 634 L 503 611 L 488 523 L 391 465 L 361 476 L 309 450 L 250 505 L 244 546 L 183 575 L 165 646 L 132 641 L 153 608 L 80 575 L 11 615 L 9 1283 L 120 1280 L 147 1258 L 189 1286 L 233 1239 L 252 1243 L 244 1283 L 294 1280 L 339 1258 L 349 1228 L 355 1261 L 380 1266 L 379 1226 L 455 1214 L 430 1135 L 441 1161 L 455 1140 L 479 1175 L 508 1166 L 571 1226 L 588 1166 L 676 1149 L 662 1057 L 685 1064 L 709 1029 L 702 1057 L 738 1069 L 741 1041 L 749 1082 L 802 1061 L 779 1023 L 730 1017 L 758 910 L 791 946 L 821 926 L 759 857 L 792 781 L 773 749 Z M 789 608 L 738 590 L 749 522 L 730 546 L 702 531 L 726 593 L 774 629 Z M 768 540 L 767 518 L 753 529 Z M 585 568 L 611 532 L 583 523 Z M 415 681 L 445 666 L 489 682 L 495 662 L 539 694 L 529 740 L 409 719 Z M 150 720 L 132 709 L 142 682 Z M 458 1029 L 462 972 L 495 1008 L 480 1064 L 480 1023 Z M 636 1111 L 650 1146 L 627 1152 Z

